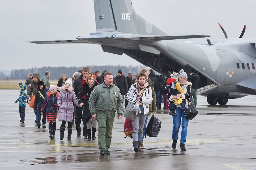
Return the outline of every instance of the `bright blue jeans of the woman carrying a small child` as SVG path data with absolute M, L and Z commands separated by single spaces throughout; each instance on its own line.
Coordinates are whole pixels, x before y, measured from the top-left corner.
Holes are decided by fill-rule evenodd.
M 172 138 L 178 139 L 178 133 L 181 126 L 181 140 L 180 143 L 185 143 L 187 138 L 187 126 L 188 119 L 185 118 L 185 111 L 182 111 L 179 107 L 176 108 L 177 116 L 172 116 L 173 128 L 172 128 Z

